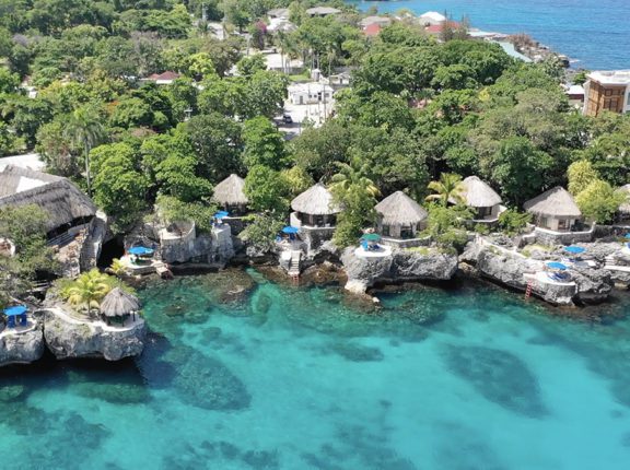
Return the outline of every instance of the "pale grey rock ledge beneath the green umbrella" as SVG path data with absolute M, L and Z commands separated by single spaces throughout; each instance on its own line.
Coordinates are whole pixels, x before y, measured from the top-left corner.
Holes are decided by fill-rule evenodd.
M 346 289 L 364 293 L 376 282 L 446 281 L 457 271 L 457 256 L 438 249 L 394 249 L 390 256 L 366 258 L 347 248 L 341 262 L 348 274 Z

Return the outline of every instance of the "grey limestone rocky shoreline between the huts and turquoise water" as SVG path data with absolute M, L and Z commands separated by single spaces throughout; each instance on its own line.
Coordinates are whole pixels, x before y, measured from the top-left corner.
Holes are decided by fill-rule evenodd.
M 482 279 L 556 306 L 580 307 L 606 302 L 615 287 L 628 290 L 630 268 L 611 270 L 610 265 L 630 267 L 626 254 L 616 242 L 584 243 L 588 262 L 571 266 L 571 282 L 548 282 L 546 263 L 565 260 L 561 246 L 542 250 L 534 245 L 530 251 L 520 250 L 504 236 L 476 236 L 460 255 L 439 247 L 388 247 L 381 256 L 365 255 L 350 247 L 342 251 L 330 244 L 312 250 L 303 260 L 301 285 L 336 284 L 350 296 L 377 302 L 375 289 L 406 282 L 444 283 L 455 277 Z M 281 250 L 267 256 L 232 257 L 228 266 L 258 266 L 276 282 L 290 281 L 288 267 L 281 262 Z M 264 267 L 268 267 L 266 269 Z M 211 269 L 210 269 L 211 268 Z M 183 274 L 217 272 L 215 266 L 183 263 Z M 220 272 L 219 274 L 220 275 Z M 97 319 L 80 319 L 63 310 L 54 295 L 35 310 L 32 326 L 20 332 L 0 332 L 0 366 L 38 361 L 48 350 L 57 360 L 102 359 L 119 361 L 142 353 L 147 325 L 143 319 L 127 327 L 110 327 Z M 573 310 L 575 312 L 575 310 Z M 576 317 L 580 315 L 576 314 Z

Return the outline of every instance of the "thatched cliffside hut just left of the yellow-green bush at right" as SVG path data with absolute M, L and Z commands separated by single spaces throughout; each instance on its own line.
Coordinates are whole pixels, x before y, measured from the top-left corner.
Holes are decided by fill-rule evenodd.
M 573 196 L 560 186 L 551 188 L 523 204 L 534 215 L 534 224 L 553 232 L 570 232 L 582 212 Z

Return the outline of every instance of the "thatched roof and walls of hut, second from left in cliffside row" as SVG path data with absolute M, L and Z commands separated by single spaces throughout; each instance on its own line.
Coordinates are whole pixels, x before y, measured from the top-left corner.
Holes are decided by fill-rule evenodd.
M 334 227 L 339 205 L 332 202 L 332 195 L 317 183 L 291 201 L 291 225 L 298 227 Z

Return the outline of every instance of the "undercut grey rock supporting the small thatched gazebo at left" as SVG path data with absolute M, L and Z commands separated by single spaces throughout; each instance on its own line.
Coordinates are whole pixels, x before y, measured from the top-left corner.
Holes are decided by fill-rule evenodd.
M 142 319 L 128 328 L 110 328 L 101 321 L 74 320 L 58 310 L 45 312 L 44 338 L 57 359 L 103 357 L 119 361 L 136 356 L 144 349 L 145 333 Z

